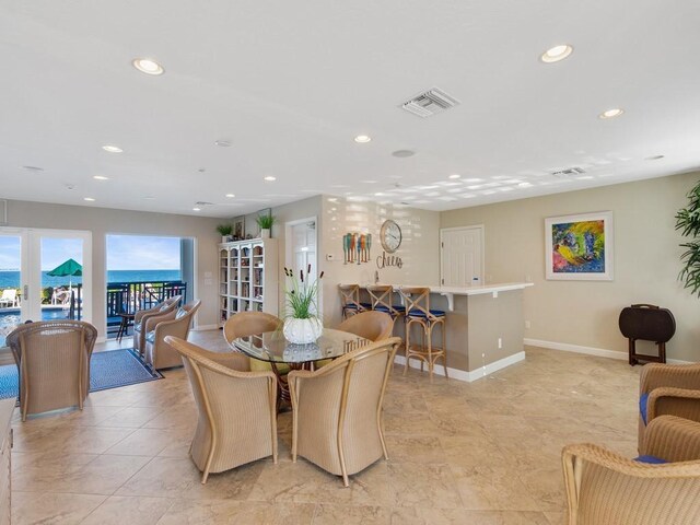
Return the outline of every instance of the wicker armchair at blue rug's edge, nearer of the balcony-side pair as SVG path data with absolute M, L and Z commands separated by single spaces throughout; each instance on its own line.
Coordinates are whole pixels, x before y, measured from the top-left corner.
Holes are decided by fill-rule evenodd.
M 192 317 L 201 301 L 187 303 L 177 311 L 156 315 L 145 322 L 145 362 L 155 370 L 182 366 L 183 360 L 167 342 L 166 336 L 187 339 Z

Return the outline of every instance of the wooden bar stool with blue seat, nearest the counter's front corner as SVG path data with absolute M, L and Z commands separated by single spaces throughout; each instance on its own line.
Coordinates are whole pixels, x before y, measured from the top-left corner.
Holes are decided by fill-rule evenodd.
M 408 372 L 408 362 L 410 358 L 420 359 L 420 370 L 423 370 L 423 363 L 428 364 L 428 373 L 430 381 L 433 381 L 433 370 L 435 361 L 442 358 L 445 368 L 445 377 L 447 375 L 447 352 L 445 341 L 445 313 L 442 310 L 430 310 L 430 288 L 399 288 L 399 293 L 406 304 L 406 368 L 404 375 Z M 411 326 L 418 325 L 421 331 L 421 345 L 411 345 L 410 332 Z M 432 343 L 433 329 L 440 326 L 442 330 L 442 347 L 434 348 Z

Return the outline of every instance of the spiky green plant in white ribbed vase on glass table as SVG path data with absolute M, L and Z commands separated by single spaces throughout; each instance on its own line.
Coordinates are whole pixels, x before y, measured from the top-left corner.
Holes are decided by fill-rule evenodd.
M 320 337 L 324 325 L 318 317 L 318 279 L 311 282 L 311 265 L 304 276 L 300 270 L 299 277 L 289 268 L 284 268 L 287 276 L 287 315 L 282 331 L 287 340 L 296 345 L 307 345 Z

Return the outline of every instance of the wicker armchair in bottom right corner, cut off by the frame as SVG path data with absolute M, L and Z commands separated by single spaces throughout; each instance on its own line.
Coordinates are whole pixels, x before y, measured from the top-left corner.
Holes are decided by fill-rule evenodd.
M 640 451 L 650 465 L 581 444 L 562 452 L 569 525 L 700 523 L 700 423 L 661 416 Z

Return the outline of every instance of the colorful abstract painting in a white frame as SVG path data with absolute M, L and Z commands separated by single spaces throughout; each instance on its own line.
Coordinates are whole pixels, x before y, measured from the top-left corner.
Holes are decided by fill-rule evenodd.
M 612 279 L 612 213 L 545 220 L 547 279 Z

